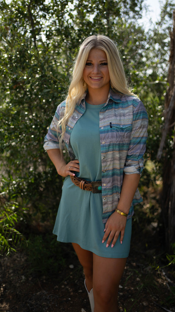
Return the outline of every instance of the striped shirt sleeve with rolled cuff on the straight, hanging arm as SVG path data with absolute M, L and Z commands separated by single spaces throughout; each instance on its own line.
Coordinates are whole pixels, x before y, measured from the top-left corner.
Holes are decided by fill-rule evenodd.
M 143 103 L 140 101 L 133 111 L 133 124 L 130 145 L 125 161 L 124 173 L 141 173 L 144 168 L 143 155 L 146 150 L 148 129 L 148 115 Z

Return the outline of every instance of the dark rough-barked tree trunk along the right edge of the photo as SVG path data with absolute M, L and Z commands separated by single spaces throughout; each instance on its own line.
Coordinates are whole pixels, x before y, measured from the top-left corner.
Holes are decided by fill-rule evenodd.
M 165 122 L 157 158 L 162 156 L 167 134 L 173 134 L 171 158 L 165 153 L 163 167 L 163 189 L 161 195 L 162 216 L 165 227 L 165 242 L 168 250 L 175 242 L 175 11 L 173 12 L 173 31 L 170 32 L 170 66 L 168 70 L 169 87 L 165 97 Z

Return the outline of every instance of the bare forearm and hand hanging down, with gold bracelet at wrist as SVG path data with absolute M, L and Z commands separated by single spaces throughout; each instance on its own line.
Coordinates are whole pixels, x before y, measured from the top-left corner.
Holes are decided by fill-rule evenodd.
M 121 196 L 117 205 L 117 209 L 125 214 L 129 213 L 131 202 L 133 200 L 135 191 L 138 187 L 140 180 L 140 174 L 124 174 L 123 184 L 121 188 Z M 108 247 L 112 241 L 111 247 L 113 247 L 120 236 L 120 242 L 122 244 L 126 226 L 126 217 L 122 216 L 118 212 L 112 213 L 108 218 L 105 225 L 105 234 L 103 236 L 102 243 L 104 243 L 108 237 L 106 247 Z

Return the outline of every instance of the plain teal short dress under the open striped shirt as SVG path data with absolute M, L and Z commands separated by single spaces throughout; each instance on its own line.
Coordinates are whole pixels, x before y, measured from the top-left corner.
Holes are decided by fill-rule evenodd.
M 101 105 L 86 103 L 86 111 L 73 127 L 70 144 L 75 159 L 79 160 L 80 172 L 77 176 L 89 181 L 102 179 L 101 146 L 99 132 L 99 111 Z M 106 248 L 102 244 L 105 224 L 102 223 L 102 193 L 93 194 L 74 185 L 67 176 L 64 179 L 62 196 L 53 233 L 57 240 L 77 243 L 83 249 L 107 258 L 125 258 L 130 250 L 131 222 L 126 222 L 125 235 L 120 244 Z

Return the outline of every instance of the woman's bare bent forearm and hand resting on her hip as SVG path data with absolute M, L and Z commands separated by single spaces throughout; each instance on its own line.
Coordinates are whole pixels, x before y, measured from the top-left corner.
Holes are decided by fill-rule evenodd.
M 67 177 L 68 175 L 74 176 L 75 174 L 72 171 L 80 171 L 78 159 L 71 160 L 66 164 L 60 149 L 48 149 L 47 154 L 54 164 L 58 174 L 62 177 Z

